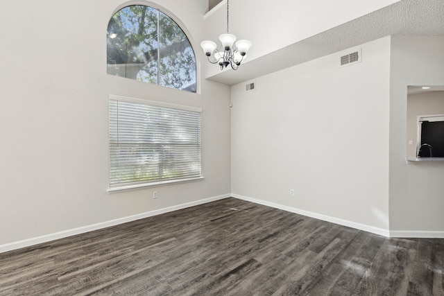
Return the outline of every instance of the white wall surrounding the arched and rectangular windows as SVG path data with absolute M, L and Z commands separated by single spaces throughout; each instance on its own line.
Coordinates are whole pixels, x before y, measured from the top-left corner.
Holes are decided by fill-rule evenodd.
M 199 80 L 191 94 L 108 76 L 106 28 L 123 3 L 2 3 L 0 246 L 230 192 L 229 87 Z M 200 53 L 208 1 L 155 3 Z M 109 94 L 202 107 L 205 180 L 106 193 Z

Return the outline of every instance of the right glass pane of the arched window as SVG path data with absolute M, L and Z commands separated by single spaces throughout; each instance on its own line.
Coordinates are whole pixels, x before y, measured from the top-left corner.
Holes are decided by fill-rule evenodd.
M 194 51 L 182 29 L 160 12 L 159 84 L 196 92 Z

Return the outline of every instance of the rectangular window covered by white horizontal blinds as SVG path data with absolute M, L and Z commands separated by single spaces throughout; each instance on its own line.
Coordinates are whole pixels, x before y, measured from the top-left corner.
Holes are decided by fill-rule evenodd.
M 200 113 L 110 96 L 110 191 L 202 178 Z

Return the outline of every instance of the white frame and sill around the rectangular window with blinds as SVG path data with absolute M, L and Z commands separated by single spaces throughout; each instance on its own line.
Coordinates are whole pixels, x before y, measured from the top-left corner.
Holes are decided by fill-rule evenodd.
M 176 104 L 170 104 L 170 103 L 163 103 L 163 102 L 158 102 L 158 101 L 148 101 L 148 100 L 143 100 L 143 99 L 139 99 L 139 98 L 129 98 L 129 97 L 125 97 L 125 96 L 115 96 L 115 95 L 110 95 L 108 98 L 108 105 L 110 105 L 111 101 L 121 101 L 121 102 L 126 102 L 126 103 L 137 103 L 137 104 L 142 104 L 142 105 L 149 105 L 149 106 L 153 106 L 153 107 L 163 107 L 163 108 L 170 108 L 173 110 L 183 110 L 183 111 L 189 111 L 189 112 L 198 112 L 199 113 L 199 117 L 200 117 L 200 123 L 201 123 L 201 119 L 202 119 L 202 108 L 199 107 L 190 107 L 190 106 L 185 106 L 185 105 L 176 105 Z M 153 187 L 153 186 L 164 186 L 164 185 L 169 185 L 169 184 L 179 184 L 179 183 L 183 183 L 183 182 L 193 182 L 193 181 L 198 181 L 198 180 L 203 180 L 203 166 L 202 166 L 202 127 L 201 124 L 199 125 L 199 162 L 198 164 L 200 165 L 200 175 L 199 176 L 193 176 L 193 177 L 177 177 L 177 178 L 173 178 L 173 179 L 156 179 L 154 181 L 142 181 L 142 182 L 131 182 L 129 184 L 111 184 L 111 110 L 108 110 L 108 115 L 110 116 L 109 119 L 109 123 L 108 123 L 108 193 L 116 193 L 116 192 L 120 192 L 120 191 L 129 191 L 129 190 L 135 190 L 135 189 L 143 189 L 143 188 L 147 188 L 147 187 Z

